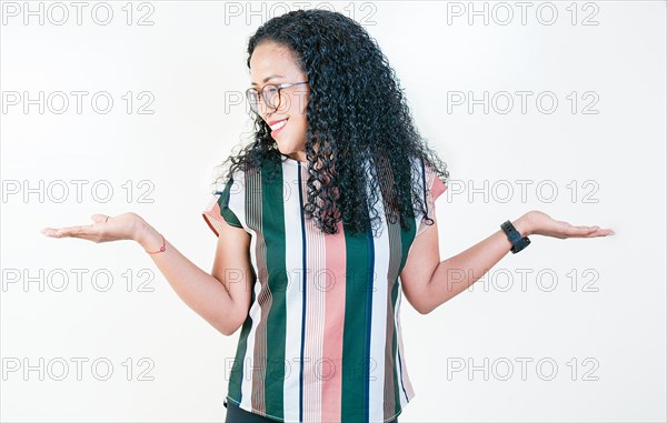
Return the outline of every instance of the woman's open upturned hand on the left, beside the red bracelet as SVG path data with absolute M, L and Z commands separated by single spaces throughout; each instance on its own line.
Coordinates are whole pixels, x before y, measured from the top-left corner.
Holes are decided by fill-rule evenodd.
M 139 214 L 132 212 L 122 213 L 115 218 L 106 214 L 93 214 L 91 219 L 94 222 L 93 224 L 59 229 L 44 228 L 41 233 L 51 238 L 81 238 L 92 242 L 137 241 L 146 226 L 146 221 Z

